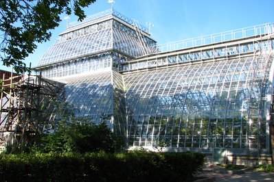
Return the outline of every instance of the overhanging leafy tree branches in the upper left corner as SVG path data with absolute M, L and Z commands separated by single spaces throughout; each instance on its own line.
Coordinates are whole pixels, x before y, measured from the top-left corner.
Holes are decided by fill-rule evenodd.
M 62 13 L 73 12 L 82 21 L 85 8 L 96 0 L 10 0 L 0 1 L 0 58 L 4 66 L 26 71 L 23 60 L 52 36 Z

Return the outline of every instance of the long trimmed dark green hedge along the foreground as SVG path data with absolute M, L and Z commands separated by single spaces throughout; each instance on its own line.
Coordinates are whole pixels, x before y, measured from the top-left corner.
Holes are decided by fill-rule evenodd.
M 0 155 L 0 181 L 192 181 L 201 153 Z

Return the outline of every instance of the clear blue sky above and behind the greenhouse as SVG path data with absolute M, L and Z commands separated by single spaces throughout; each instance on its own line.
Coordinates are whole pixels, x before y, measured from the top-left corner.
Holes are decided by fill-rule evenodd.
M 85 9 L 87 16 L 110 9 L 107 1 L 97 0 L 90 5 Z M 152 38 L 159 44 L 274 22 L 274 0 L 115 0 L 113 7 L 142 25 L 153 23 Z M 76 20 L 71 16 L 69 21 Z M 64 20 L 52 30 L 51 40 L 39 44 L 25 63 L 37 66 L 66 24 Z M 0 69 L 10 70 L 2 65 Z

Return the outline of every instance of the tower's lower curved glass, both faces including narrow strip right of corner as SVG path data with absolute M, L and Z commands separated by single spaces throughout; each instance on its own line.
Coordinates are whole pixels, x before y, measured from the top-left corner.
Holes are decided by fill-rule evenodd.
M 59 103 L 55 105 L 54 120 L 60 116 L 90 118 L 93 122 L 106 122 L 109 127 L 125 135 L 124 96 L 120 91 L 122 76 L 112 70 L 89 73 L 74 77 L 57 79 L 65 83 L 62 93 L 58 94 Z

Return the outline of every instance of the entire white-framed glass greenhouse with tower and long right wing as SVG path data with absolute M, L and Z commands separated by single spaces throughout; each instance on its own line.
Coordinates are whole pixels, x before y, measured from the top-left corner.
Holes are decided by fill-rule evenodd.
M 65 84 L 58 110 L 107 122 L 128 148 L 269 154 L 273 39 L 266 23 L 158 45 L 111 9 L 69 24 L 35 69 Z

